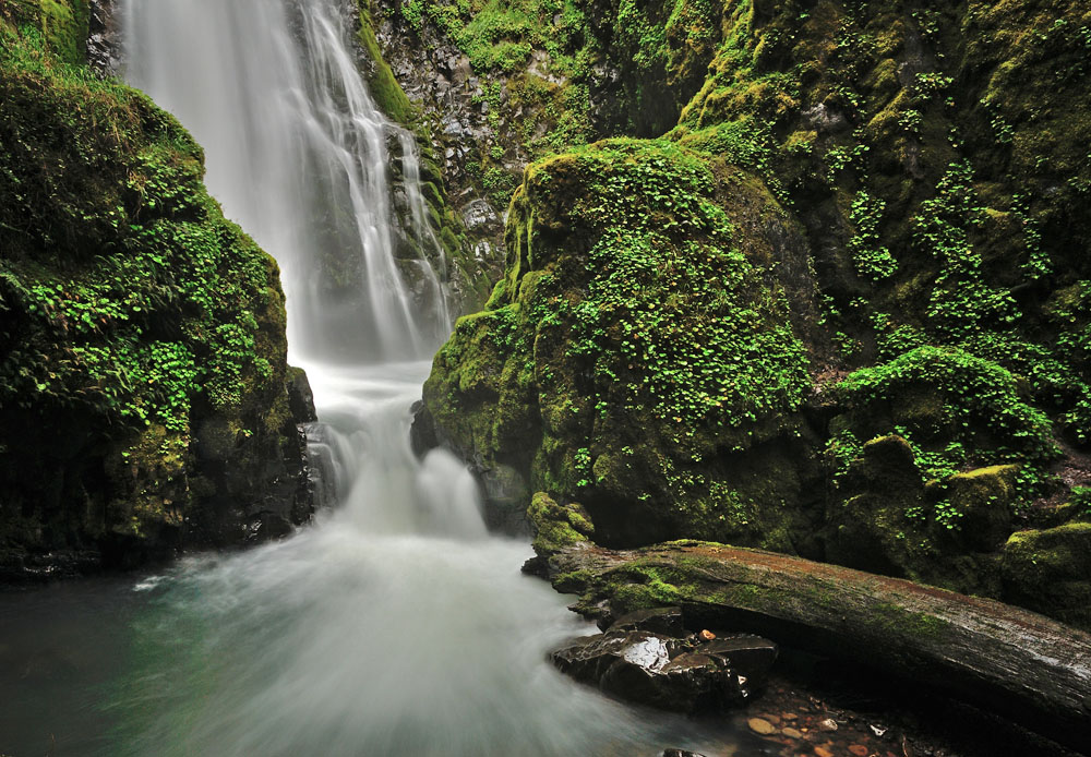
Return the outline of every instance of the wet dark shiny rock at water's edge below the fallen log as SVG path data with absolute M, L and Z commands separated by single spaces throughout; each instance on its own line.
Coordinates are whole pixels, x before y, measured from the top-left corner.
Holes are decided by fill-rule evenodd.
M 702 642 L 682 627 L 681 609 L 669 608 L 625 615 L 551 659 L 563 673 L 622 699 L 696 712 L 746 704 L 776 661 L 777 645 L 757 636 Z

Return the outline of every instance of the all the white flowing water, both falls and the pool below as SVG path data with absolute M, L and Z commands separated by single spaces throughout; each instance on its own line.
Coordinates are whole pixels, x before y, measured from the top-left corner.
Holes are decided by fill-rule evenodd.
M 528 544 L 487 532 L 457 460 L 412 454 L 409 407 L 449 328 L 443 259 L 344 9 L 122 12 L 127 76 L 190 129 L 212 193 L 281 266 L 337 503 L 248 552 L 0 596 L 0 754 L 735 754 L 556 673 L 548 650 L 594 628 L 520 574 Z

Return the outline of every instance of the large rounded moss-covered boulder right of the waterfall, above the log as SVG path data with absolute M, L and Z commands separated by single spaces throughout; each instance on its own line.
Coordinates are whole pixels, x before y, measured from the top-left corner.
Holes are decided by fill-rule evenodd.
M 578 500 L 608 543 L 795 549 L 806 248 L 762 183 L 670 143 L 606 142 L 530 168 L 507 237 L 489 308 L 425 384 L 440 441 L 487 479 L 521 477 L 523 507 Z

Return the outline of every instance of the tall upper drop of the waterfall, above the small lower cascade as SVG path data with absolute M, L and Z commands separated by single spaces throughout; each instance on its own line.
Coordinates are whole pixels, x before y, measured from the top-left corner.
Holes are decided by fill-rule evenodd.
M 429 357 L 449 316 L 416 145 L 368 94 L 336 3 L 131 0 L 123 13 L 128 77 L 182 119 L 213 195 L 280 263 L 293 360 Z M 415 184 L 407 235 L 388 140 Z

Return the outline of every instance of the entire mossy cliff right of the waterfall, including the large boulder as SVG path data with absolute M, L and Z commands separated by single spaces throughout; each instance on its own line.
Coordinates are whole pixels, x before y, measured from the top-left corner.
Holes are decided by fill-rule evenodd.
M 532 164 L 422 437 L 497 502 L 584 504 L 607 543 L 762 544 L 1089 622 L 1091 12 L 421 0 L 387 17 L 465 56 L 465 82 L 422 101 L 484 93 L 492 131 L 448 134 L 470 145 L 453 159 Z M 528 82 L 555 97 L 528 105 Z M 586 97 L 565 110 L 564 92 Z M 577 111 L 586 128 L 552 125 Z M 525 123 L 547 131 L 507 142 Z M 615 134 L 658 139 L 579 147 Z

